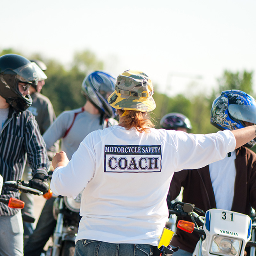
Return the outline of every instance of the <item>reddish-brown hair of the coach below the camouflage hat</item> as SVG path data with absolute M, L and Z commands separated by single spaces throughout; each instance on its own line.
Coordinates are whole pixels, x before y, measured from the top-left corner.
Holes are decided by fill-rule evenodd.
M 138 132 L 149 132 L 149 128 L 155 126 L 147 112 L 123 109 L 118 110 L 121 115 L 126 111 L 126 115 L 123 116 L 123 124 L 126 130 L 135 127 Z

